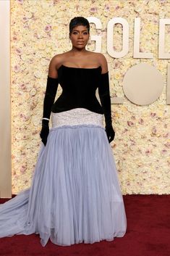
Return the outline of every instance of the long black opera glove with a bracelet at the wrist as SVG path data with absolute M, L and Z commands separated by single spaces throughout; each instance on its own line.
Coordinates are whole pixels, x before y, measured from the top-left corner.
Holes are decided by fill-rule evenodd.
M 58 78 L 50 78 L 47 76 L 47 83 L 46 83 L 46 94 L 43 101 L 43 118 L 50 118 L 51 115 L 51 107 L 54 104 L 54 99 L 56 97 L 56 91 L 59 85 Z M 46 146 L 47 137 L 49 133 L 49 120 L 43 119 L 42 120 L 42 128 L 41 128 L 41 141 Z

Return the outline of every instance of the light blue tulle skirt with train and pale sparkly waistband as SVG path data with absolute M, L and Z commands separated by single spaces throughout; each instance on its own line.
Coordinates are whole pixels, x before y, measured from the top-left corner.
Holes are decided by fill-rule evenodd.
M 124 236 L 127 219 L 103 115 L 52 113 L 30 189 L 0 206 L 0 237 L 39 234 L 69 246 Z M 0 240 L 1 243 L 1 240 Z

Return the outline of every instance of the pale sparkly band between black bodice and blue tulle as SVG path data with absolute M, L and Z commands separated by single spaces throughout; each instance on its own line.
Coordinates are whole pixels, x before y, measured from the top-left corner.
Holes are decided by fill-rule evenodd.
M 78 107 L 59 113 L 51 113 L 52 127 L 62 125 L 101 125 L 103 127 L 103 115 Z

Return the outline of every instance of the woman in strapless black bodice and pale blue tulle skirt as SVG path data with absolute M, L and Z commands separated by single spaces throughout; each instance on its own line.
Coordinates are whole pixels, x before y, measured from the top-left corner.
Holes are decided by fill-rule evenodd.
M 103 54 L 87 51 L 90 25 L 69 23 L 72 49 L 51 59 L 41 139 L 30 189 L 0 207 L 0 237 L 40 234 L 41 244 L 112 241 L 127 220 L 109 142 L 109 72 Z M 54 103 L 58 84 L 63 91 Z M 95 97 L 98 88 L 101 104 Z M 48 122 L 51 116 L 52 128 Z M 105 118 L 105 128 L 103 127 Z

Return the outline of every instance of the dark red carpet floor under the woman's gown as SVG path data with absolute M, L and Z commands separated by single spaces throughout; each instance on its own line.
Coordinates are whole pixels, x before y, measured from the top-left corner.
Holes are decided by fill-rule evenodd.
M 3 199 L 0 202 L 4 202 Z M 0 239 L 0 255 L 16 256 L 170 256 L 170 195 L 126 195 L 127 234 L 114 241 L 60 247 L 38 235 Z

